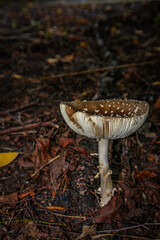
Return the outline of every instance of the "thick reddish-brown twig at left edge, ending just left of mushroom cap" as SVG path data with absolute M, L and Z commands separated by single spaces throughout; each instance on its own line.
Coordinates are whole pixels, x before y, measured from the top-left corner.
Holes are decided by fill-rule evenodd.
M 13 128 L 1 130 L 0 135 L 5 135 L 5 134 L 8 134 L 8 133 L 12 133 L 12 132 L 25 131 L 25 130 L 29 130 L 29 129 L 33 129 L 33 128 L 40 128 L 40 127 L 59 128 L 59 125 L 55 124 L 53 122 L 33 123 L 33 124 L 24 125 L 24 126 L 13 127 Z

